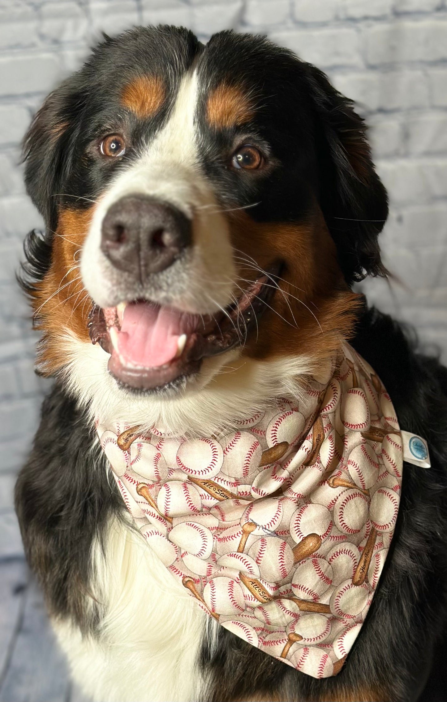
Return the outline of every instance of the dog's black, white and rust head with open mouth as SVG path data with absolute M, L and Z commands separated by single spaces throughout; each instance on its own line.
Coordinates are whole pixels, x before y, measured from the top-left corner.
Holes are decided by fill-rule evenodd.
M 25 156 L 47 226 L 27 245 L 40 367 L 88 399 L 180 402 L 223 369 L 235 390 L 243 364 L 243 383 L 281 392 L 284 364 L 317 371 L 352 333 L 352 282 L 384 272 L 363 121 L 260 37 L 105 39 L 47 98 Z

